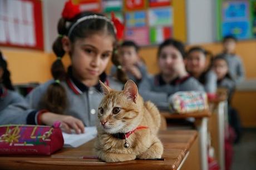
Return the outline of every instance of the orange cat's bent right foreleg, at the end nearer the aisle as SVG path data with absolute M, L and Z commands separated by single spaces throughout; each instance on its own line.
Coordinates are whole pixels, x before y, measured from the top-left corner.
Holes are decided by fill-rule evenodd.
M 152 145 L 150 148 L 148 148 L 144 153 L 141 153 L 137 158 L 139 159 L 156 159 L 156 158 L 161 158 L 163 152 L 164 152 L 164 147 L 161 141 L 155 137 L 153 139 L 154 141 L 152 142 Z

